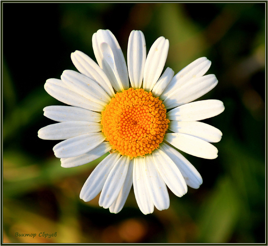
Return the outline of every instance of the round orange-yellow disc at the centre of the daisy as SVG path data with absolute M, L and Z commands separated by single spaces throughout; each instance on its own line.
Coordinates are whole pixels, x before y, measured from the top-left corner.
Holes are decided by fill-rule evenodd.
M 144 156 L 163 141 L 168 128 L 161 100 L 144 89 L 116 93 L 102 112 L 102 132 L 121 155 Z

